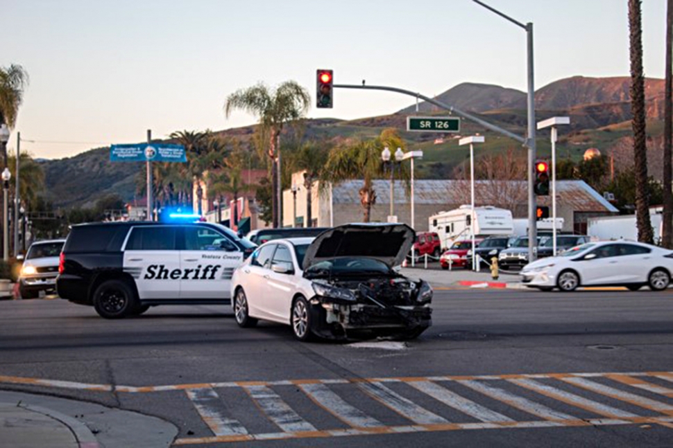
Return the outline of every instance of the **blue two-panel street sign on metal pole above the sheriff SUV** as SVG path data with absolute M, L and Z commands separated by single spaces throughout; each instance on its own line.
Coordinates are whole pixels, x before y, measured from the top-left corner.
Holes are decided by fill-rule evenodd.
M 112 162 L 145 162 L 147 165 L 147 220 L 153 221 L 152 206 L 152 162 L 187 161 L 187 153 L 182 145 L 170 143 L 150 143 L 151 131 L 147 131 L 148 143 L 131 143 L 127 145 L 110 145 L 110 161 Z

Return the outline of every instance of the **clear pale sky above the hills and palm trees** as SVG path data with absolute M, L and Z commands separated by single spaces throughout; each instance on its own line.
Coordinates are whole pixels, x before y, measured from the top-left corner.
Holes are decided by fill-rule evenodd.
M 485 1 L 534 23 L 536 88 L 629 75 L 627 0 Z M 645 74 L 663 78 L 665 0 L 642 8 Z M 15 130 L 39 157 L 143 141 L 146 129 L 164 137 L 249 125 L 244 113 L 225 119 L 229 93 L 296 80 L 314 98 L 319 68 L 338 83 L 429 96 L 460 82 L 526 89 L 525 31 L 470 0 L 0 0 L 0 17 L 0 66 L 22 64 L 31 80 Z M 309 117 L 413 102 L 337 89 L 334 109 L 312 107 Z

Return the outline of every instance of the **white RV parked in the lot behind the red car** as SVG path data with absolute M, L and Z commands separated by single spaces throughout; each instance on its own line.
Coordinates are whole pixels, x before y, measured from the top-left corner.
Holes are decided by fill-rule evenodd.
M 455 210 L 440 212 L 428 218 L 428 229 L 436 232 L 442 249 L 451 247 L 455 240 L 469 238 L 470 222 L 475 219 L 475 236 L 512 235 L 513 219 L 510 210 L 493 206 L 460 206 Z

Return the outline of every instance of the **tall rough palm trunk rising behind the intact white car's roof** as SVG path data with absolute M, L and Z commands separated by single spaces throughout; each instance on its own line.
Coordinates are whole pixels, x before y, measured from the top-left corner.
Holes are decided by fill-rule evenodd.
M 631 42 L 631 112 L 633 113 L 633 161 L 636 168 L 636 226 L 638 241 L 652 243 L 647 197 L 647 145 L 645 134 L 645 80 L 642 75 L 642 24 L 640 0 L 629 0 Z M 669 186 L 670 188 L 670 186 Z

